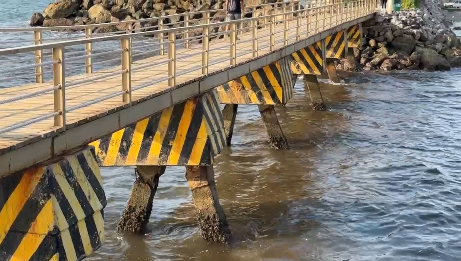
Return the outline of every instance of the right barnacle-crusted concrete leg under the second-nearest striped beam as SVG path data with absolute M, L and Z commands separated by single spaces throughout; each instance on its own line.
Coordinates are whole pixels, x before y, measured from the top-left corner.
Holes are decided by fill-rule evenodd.
M 223 208 L 219 205 L 213 166 L 186 166 L 186 179 L 192 191 L 201 237 L 228 243 L 231 231 Z

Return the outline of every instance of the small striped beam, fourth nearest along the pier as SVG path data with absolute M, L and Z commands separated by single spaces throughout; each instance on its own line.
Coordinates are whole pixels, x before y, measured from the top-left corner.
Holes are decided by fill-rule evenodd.
M 319 41 L 292 53 L 290 55 L 292 73 L 321 75 L 324 63 L 322 49 L 322 42 Z

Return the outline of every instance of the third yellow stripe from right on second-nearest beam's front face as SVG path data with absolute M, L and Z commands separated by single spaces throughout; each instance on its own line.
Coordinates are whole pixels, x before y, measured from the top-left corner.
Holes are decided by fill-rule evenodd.
M 173 107 L 164 109 L 160 116 L 159 126 L 155 132 L 154 139 L 152 140 L 152 146 L 150 146 L 149 154 L 146 159 L 146 163 L 151 165 L 157 165 L 159 162 L 160 149 L 162 148 L 163 139 L 168 131 L 168 124 L 170 123 L 171 113 Z

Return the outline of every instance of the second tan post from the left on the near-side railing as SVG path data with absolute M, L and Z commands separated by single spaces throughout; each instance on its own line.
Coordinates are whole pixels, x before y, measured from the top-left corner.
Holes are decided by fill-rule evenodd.
M 131 103 L 131 42 L 130 37 L 122 38 L 122 91 L 125 93 L 122 96 L 124 103 Z

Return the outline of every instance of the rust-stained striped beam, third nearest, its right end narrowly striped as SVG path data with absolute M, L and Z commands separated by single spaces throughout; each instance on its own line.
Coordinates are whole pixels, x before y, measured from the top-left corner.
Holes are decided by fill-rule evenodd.
M 280 105 L 293 97 L 294 84 L 290 59 L 284 57 L 216 89 L 224 104 Z

